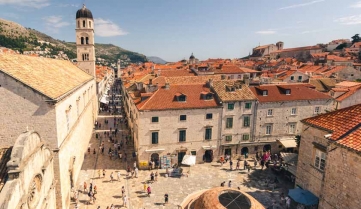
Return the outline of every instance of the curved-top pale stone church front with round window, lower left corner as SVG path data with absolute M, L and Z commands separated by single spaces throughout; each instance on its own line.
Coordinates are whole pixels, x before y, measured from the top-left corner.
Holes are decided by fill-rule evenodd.
M 22 133 L 7 163 L 0 208 L 56 208 L 53 152 L 34 131 Z

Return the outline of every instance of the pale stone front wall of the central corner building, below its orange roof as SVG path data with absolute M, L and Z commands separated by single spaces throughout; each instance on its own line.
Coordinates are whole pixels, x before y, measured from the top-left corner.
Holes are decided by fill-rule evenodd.
M 212 119 L 206 119 L 206 114 L 212 114 Z M 134 141 L 138 142 L 136 149 L 139 161 L 148 162 L 153 153 L 162 156 L 185 152 L 195 154 L 197 162 L 202 162 L 205 151 L 209 149 L 213 150 L 214 158 L 217 158 L 221 137 L 221 108 L 142 111 L 136 115 L 139 118 Z M 180 121 L 180 115 L 186 115 L 186 120 Z M 152 117 L 158 117 L 159 122 L 152 122 Z M 206 128 L 212 130 L 209 140 L 205 139 Z M 184 142 L 179 141 L 180 130 L 186 131 Z M 152 132 L 158 132 L 158 144 L 152 144 Z

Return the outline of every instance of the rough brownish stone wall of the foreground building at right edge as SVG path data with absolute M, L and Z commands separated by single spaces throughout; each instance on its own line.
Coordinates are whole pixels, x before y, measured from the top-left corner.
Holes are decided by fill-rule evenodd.
M 360 153 L 325 139 L 329 132 L 306 125 L 303 129 L 296 185 L 319 197 L 320 209 L 359 208 Z M 324 169 L 315 165 L 316 150 L 326 154 Z

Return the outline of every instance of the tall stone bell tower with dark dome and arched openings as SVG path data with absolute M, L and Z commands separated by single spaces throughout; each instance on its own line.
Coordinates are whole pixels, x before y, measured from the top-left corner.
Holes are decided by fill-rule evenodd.
M 78 67 L 95 77 L 94 19 L 85 5 L 76 12 L 75 33 Z

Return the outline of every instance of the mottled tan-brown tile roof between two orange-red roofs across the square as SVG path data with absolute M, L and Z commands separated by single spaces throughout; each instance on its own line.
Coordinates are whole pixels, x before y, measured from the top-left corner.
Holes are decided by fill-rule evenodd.
M 223 102 L 241 101 L 241 100 L 256 100 L 252 91 L 247 85 L 241 84 L 241 88 L 235 88 L 235 91 L 230 92 L 228 87 L 239 84 L 239 81 L 221 80 L 213 81 L 213 89 Z

